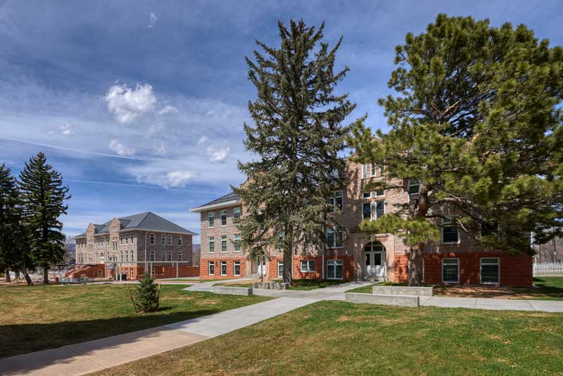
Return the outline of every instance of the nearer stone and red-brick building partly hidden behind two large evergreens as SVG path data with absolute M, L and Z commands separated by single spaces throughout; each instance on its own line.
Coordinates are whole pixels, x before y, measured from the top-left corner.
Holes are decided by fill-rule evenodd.
M 417 182 L 399 181 L 401 189 L 364 192 L 365 185 L 380 178 L 373 164 L 348 161 L 348 184 L 334 192 L 329 202 L 341 209 L 339 223 L 346 231 L 329 230 L 329 252 L 307 251 L 293 256 L 293 278 L 364 280 L 394 282 L 407 280 L 408 246 L 395 234 L 367 234 L 360 230 L 364 218 L 375 219 L 393 213 L 397 203 L 410 200 L 418 192 Z M 227 194 L 191 209 L 201 213 L 200 277 L 233 278 L 248 275 L 281 277 L 281 253 L 272 253 L 265 262 L 247 260 L 241 249 L 240 234 L 233 223 L 243 215 L 239 196 Z M 445 214 L 445 213 L 443 213 Z M 455 213 L 448 213 L 455 214 Z M 445 215 L 447 217 L 447 215 Z M 424 249 L 423 280 L 429 284 L 498 284 L 530 286 L 532 258 L 524 253 L 510 256 L 483 249 L 475 237 L 451 226 L 447 218 L 438 220 L 441 242 Z M 479 234 L 476 234 L 478 237 Z

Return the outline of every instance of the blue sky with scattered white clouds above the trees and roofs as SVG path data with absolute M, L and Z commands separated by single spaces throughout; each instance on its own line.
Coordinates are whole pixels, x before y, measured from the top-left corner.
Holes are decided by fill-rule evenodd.
M 0 1 L 0 163 L 43 151 L 72 199 L 63 230 L 153 211 L 199 232 L 189 208 L 243 177 L 254 88 L 245 56 L 277 20 L 344 35 L 339 86 L 385 129 L 393 49 L 436 14 L 525 23 L 563 44 L 560 1 Z M 194 239 L 198 242 L 199 239 Z

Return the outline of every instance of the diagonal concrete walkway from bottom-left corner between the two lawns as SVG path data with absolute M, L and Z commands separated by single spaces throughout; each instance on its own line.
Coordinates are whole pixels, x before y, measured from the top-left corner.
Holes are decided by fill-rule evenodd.
M 274 299 L 231 311 L 0 359 L 1 375 L 84 375 L 195 344 L 314 303 Z

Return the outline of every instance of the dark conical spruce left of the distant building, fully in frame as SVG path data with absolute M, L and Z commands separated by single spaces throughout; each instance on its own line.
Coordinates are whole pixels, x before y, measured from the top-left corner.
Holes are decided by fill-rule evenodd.
M 30 158 L 20 173 L 23 217 L 29 229 L 32 256 L 44 270 L 43 282 L 49 283 L 49 268 L 62 261 L 65 235 L 58 218 L 66 214 L 64 201 L 70 199 L 60 173 L 47 164 L 44 153 Z

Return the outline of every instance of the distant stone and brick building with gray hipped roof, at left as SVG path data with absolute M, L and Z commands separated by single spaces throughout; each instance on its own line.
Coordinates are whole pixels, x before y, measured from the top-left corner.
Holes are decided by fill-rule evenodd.
M 194 235 L 151 212 L 113 218 L 102 225 L 90 223 L 75 238 L 76 263 L 91 265 L 96 277 L 121 272 L 136 280 L 145 267 L 156 277 L 198 275 L 198 268 L 192 266 Z

